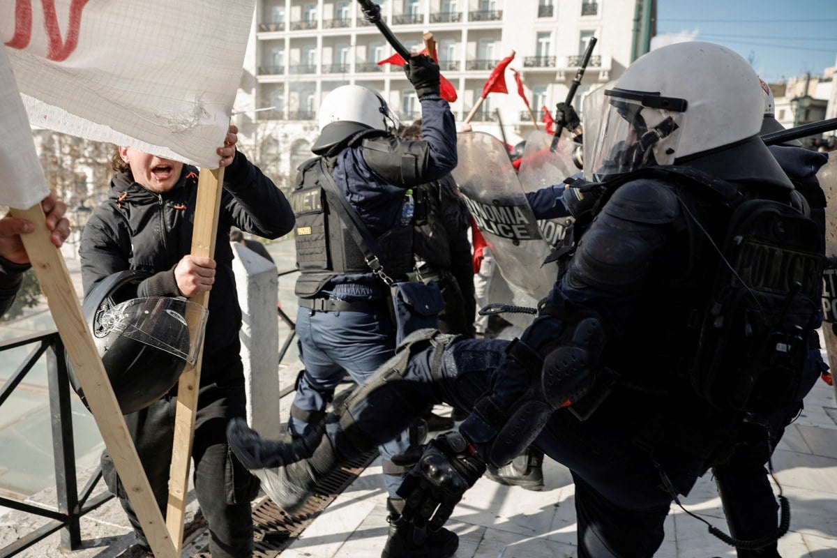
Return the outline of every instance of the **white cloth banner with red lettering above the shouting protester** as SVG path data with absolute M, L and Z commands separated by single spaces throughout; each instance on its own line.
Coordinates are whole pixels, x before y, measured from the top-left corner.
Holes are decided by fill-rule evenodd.
M 0 0 L 0 38 L 32 125 L 215 168 L 254 2 Z M 32 186 L 4 177 L 0 203 Z

